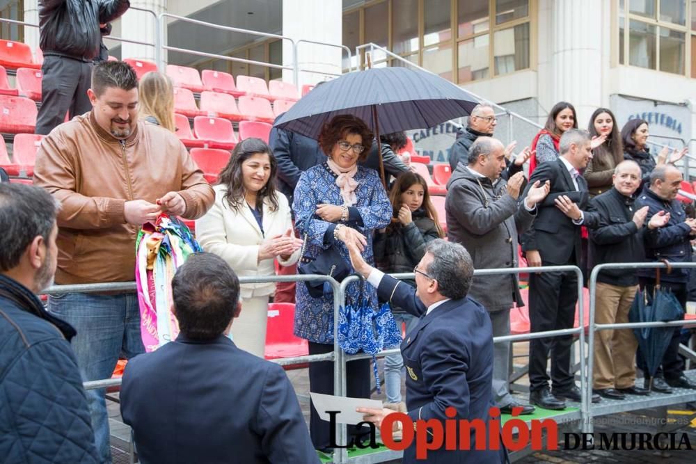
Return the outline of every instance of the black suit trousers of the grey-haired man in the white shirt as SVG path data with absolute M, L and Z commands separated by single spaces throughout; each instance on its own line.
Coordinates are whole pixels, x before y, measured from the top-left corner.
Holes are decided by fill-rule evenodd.
M 548 265 L 544 263 L 544 265 Z M 532 332 L 573 328 L 578 302 L 578 276 L 572 272 L 533 273 L 529 279 L 529 319 Z M 570 369 L 573 336 L 530 340 L 530 391 L 548 387 L 546 360 L 551 353 L 551 381 L 555 390 L 575 385 Z

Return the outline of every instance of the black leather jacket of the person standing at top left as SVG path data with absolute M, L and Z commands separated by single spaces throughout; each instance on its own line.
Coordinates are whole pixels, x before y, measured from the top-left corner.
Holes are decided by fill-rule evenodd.
M 39 45 L 43 54 L 92 61 L 100 53 L 99 25 L 118 19 L 128 0 L 39 0 Z

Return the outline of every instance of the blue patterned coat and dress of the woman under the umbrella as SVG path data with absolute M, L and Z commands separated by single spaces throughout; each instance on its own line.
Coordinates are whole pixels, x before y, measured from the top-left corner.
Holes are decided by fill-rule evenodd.
M 354 179 L 358 182 L 355 191 L 358 202 L 353 205 L 354 209 L 351 208 L 351 218 L 354 214 L 359 214 L 357 222 L 361 225 L 356 225 L 355 221 L 349 221 L 347 225 L 365 235 L 367 246 L 363 257 L 374 266 L 372 232 L 389 224 L 392 206 L 376 171 L 358 166 Z M 302 173 L 297 182 L 292 209 L 295 214 L 295 227 L 299 230 L 300 237 L 307 241 L 304 257 L 316 257 L 324 248 L 329 248 L 329 244 L 324 243 L 324 234 L 333 224 L 323 221 L 314 213 L 317 205 L 321 203 L 343 205 L 343 198 L 335 180 L 336 175 L 326 163 L 322 163 Z M 350 265 L 345 244 L 336 241 L 334 246 Z M 371 285 L 365 285 L 365 291 L 370 305 L 377 310 L 377 290 Z M 295 335 L 310 342 L 333 344 L 333 298 L 312 298 L 306 285 L 301 282 L 296 285 L 295 294 Z M 358 284 L 349 285 L 348 301 L 356 301 L 358 296 Z

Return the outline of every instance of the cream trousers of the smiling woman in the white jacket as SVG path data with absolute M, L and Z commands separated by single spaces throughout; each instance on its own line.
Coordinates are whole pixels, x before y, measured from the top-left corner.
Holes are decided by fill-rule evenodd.
M 259 358 L 266 348 L 266 321 L 269 296 L 242 298 L 242 312 L 232 321 L 232 339 L 237 348 Z

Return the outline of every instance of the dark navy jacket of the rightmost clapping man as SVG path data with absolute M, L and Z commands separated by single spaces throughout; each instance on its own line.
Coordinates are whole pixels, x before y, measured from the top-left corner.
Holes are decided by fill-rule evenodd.
M 667 259 L 670 262 L 691 261 L 691 227 L 686 221 L 686 213 L 679 200 L 663 200 L 647 187 L 638 197 L 637 207 L 648 207 L 648 216 L 645 221 L 650 221 L 653 214 L 659 211 L 670 213 L 670 222 L 665 227 L 647 230 L 644 234 L 645 255 L 648 261 L 661 261 Z M 638 269 L 639 277 L 654 278 L 655 269 Z M 662 280 L 667 282 L 687 282 L 689 269 L 672 269 L 667 274 L 661 273 Z

